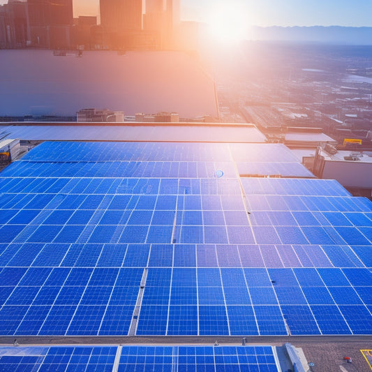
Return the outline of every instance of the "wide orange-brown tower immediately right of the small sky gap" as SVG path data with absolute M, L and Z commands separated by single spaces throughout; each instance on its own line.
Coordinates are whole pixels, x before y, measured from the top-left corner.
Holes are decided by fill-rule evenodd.
M 142 0 L 100 0 L 101 25 L 110 31 L 140 31 Z

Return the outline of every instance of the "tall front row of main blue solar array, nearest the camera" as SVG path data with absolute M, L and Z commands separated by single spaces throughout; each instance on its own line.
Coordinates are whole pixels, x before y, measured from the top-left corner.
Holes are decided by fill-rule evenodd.
M 137 335 L 372 333 L 368 269 L 4 268 L 0 278 L 6 335 L 125 336 L 134 320 Z

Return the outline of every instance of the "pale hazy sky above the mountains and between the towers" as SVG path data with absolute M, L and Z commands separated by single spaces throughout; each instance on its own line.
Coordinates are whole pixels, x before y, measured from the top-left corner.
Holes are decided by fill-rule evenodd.
M 98 15 L 99 0 L 73 3 L 75 16 Z M 372 0 L 181 0 L 181 18 L 208 22 L 209 13 L 223 6 L 236 7 L 248 24 L 260 26 L 372 27 Z

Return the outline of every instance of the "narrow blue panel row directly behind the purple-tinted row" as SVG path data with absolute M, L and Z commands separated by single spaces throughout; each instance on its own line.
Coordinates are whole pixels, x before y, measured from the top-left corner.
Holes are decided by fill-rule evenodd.
M 87 226 L 40 225 L 36 228 L 37 224 L 9 224 L 0 228 L 0 243 L 370 245 L 372 241 L 370 227 L 161 225 L 162 216 L 154 214 L 151 225 L 103 223 Z M 172 215 L 165 217 L 169 223 L 172 222 Z

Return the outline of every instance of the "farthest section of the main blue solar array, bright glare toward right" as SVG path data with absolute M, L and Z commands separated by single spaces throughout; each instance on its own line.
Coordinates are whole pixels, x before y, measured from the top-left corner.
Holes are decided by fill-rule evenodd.
M 283 144 L 76 143 L 40 144 L 24 156 L 23 166 L 17 165 L 17 176 L 214 178 L 223 170 L 228 178 L 236 178 L 237 171 L 244 176 L 313 177 Z

